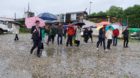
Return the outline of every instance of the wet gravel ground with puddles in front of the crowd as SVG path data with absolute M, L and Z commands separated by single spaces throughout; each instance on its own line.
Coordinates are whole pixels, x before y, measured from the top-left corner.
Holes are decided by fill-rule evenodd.
M 0 78 L 140 78 L 140 42 L 131 41 L 129 48 L 117 47 L 108 52 L 96 50 L 93 43 L 80 47 L 45 45 L 41 58 L 30 55 L 31 35 L 0 35 Z

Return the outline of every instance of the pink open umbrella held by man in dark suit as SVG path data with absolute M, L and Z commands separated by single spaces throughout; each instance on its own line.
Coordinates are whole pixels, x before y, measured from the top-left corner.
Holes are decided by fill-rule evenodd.
M 40 24 L 39 24 L 40 27 L 45 26 L 45 21 L 43 21 L 39 17 L 26 18 L 25 19 L 25 25 L 27 26 L 27 28 L 32 28 L 32 26 L 35 26 L 36 25 L 35 24 L 36 21 L 39 21 L 40 22 Z

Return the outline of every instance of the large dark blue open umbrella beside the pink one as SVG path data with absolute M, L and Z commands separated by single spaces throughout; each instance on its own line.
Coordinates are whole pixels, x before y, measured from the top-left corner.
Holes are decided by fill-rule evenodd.
M 57 17 L 51 13 L 41 13 L 38 15 L 39 18 L 43 19 L 43 20 L 57 20 Z

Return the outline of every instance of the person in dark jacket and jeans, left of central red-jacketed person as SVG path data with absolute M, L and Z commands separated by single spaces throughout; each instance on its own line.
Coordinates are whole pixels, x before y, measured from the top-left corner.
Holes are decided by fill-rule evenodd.
M 63 25 L 59 24 L 57 27 L 57 44 L 58 45 L 62 45 L 63 43 L 63 34 L 64 34 L 64 30 L 63 30 Z

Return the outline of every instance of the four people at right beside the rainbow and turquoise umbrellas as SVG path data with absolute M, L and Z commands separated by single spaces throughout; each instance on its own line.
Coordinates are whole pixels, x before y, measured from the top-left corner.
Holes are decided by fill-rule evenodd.
M 105 51 L 108 51 L 111 49 L 111 44 L 113 42 L 113 46 L 117 46 L 117 40 L 120 32 L 118 29 L 113 30 L 110 26 L 109 29 L 106 31 L 105 27 L 101 28 L 99 30 L 99 36 L 98 36 L 98 42 L 97 42 L 97 50 L 99 50 L 99 45 L 103 44 L 103 48 Z M 123 32 L 123 47 L 128 48 L 128 42 L 129 42 L 129 31 L 128 28 L 126 28 Z M 106 39 L 107 39 L 107 45 L 106 45 Z

